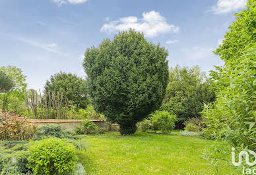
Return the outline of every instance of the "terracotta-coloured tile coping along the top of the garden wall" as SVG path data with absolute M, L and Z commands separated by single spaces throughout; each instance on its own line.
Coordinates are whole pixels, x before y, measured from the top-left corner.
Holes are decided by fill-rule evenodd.
M 106 120 L 88 120 L 90 122 L 106 122 Z M 32 123 L 60 123 L 60 122 L 82 122 L 82 119 L 32 119 Z

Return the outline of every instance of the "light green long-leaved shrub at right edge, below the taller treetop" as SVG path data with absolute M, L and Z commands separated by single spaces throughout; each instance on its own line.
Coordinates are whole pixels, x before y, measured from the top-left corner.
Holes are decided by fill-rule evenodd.
M 205 136 L 226 138 L 234 146 L 256 149 L 256 45 L 238 59 L 226 61 L 219 70 L 218 92 L 213 105 L 203 111 L 207 124 Z

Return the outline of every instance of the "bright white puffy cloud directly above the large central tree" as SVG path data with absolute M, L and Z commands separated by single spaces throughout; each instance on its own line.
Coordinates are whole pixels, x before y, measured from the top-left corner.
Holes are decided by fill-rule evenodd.
M 112 34 L 118 31 L 129 30 L 129 28 L 143 32 L 146 37 L 154 37 L 166 32 L 179 32 L 179 27 L 168 24 L 166 19 L 156 11 L 143 13 L 143 18 L 141 19 L 136 16 L 127 16 L 110 21 L 104 24 L 100 31 Z

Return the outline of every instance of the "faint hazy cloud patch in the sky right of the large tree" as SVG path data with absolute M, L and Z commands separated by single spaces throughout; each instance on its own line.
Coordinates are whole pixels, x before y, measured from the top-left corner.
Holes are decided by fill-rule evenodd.
M 212 53 L 213 49 L 205 47 L 192 47 L 190 49 L 181 49 L 181 51 L 184 52 L 189 59 L 193 59 L 194 61 L 208 59 L 214 55 Z

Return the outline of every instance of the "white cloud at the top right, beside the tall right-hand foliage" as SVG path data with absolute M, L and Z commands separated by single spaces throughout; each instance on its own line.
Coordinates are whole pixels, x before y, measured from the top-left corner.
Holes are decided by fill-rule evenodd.
M 245 7 L 246 0 L 218 0 L 217 4 L 212 7 L 214 14 L 229 13 Z

